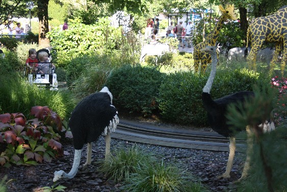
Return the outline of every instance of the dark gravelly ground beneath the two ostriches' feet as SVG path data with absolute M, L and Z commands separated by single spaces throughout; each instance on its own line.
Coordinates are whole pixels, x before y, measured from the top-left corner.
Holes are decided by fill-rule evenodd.
M 65 155 L 54 159 L 51 163 L 42 163 L 37 166 L 12 166 L 9 169 L 0 166 L 0 178 L 5 175 L 8 180 L 8 191 L 42 191 L 39 188 L 43 186 L 52 186 L 54 172 L 64 170 L 68 173 L 73 163 L 74 149 L 72 139 L 65 139 L 62 142 Z M 191 149 L 177 149 L 161 146 L 145 145 L 140 143 L 130 143 L 123 140 L 112 139 L 111 150 L 122 147 L 131 147 L 138 145 L 153 154 L 158 154 L 165 161 L 171 163 L 181 163 L 188 172 L 197 176 L 201 183 L 207 186 L 211 191 L 232 191 L 232 181 L 240 178 L 243 169 L 244 155 L 236 153 L 232 169 L 231 179 L 216 179 L 216 176 L 224 173 L 228 153 L 213 152 Z M 105 156 L 105 140 L 100 137 L 98 142 L 93 145 L 93 162 L 103 159 Z M 81 164 L 86 161 L 86 147 L 82 153 Z M 70 180 L 60 180 L 60 184 L 66 186 L 65 191 L 120 191 L 121 183 L 107 181 L 107 178 L 97 172 L 97 163 L 89 166 L 88 169 L 80 170 L 77 175 Z

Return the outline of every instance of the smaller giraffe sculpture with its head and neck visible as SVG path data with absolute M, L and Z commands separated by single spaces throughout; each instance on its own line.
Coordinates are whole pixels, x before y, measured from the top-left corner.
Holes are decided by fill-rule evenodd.
M 200 50 L 206 46 L 215 46 L 221 27 L 226 19 L 237 20 L 236 14 L 234 13 L 234 6 L 228 5 L 224 9 L 221 5 L 219 10 L 222 15 L 219 17 L 214 30 L 208 34 L 203 42 L 198 43 L 194 46 L 193 59 L 194 59 L 194 70 L 195 73 L 198 71 L 199 64 L 201 63 L 201 73 L 205 73 L 205 69 L 208 63 L 211 63 L 211 55 L 207 52 L 201 52 Z

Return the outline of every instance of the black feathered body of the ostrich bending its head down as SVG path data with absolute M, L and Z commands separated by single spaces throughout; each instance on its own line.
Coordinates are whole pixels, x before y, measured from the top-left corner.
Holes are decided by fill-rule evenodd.
M 73 110 L 69 127 L 74 148 L 81 150 L 85 143 L 95 142 L 117 115 L 107 92 L 96 92 L 84 98 Z

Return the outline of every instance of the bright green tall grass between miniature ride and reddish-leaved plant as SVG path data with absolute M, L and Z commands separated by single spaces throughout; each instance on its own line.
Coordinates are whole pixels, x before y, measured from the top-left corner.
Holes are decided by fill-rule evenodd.
M 75 100 L 68 91 L 50 91 L 30 85 L 17 74 L 0 77 L 0 113 L 30 113 L 33 106 L 48 106 L 62 118 L 69 117 Z

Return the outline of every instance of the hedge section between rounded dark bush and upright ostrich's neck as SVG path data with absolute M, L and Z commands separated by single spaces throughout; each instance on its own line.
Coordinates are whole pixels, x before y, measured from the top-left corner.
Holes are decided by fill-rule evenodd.
M 160 87 L 157 100 L 162 118 L 180 124 L 206 125 L 201 102 L 206 81 L 207 76 L 199 77 L 191 72 L 169 74 Z

